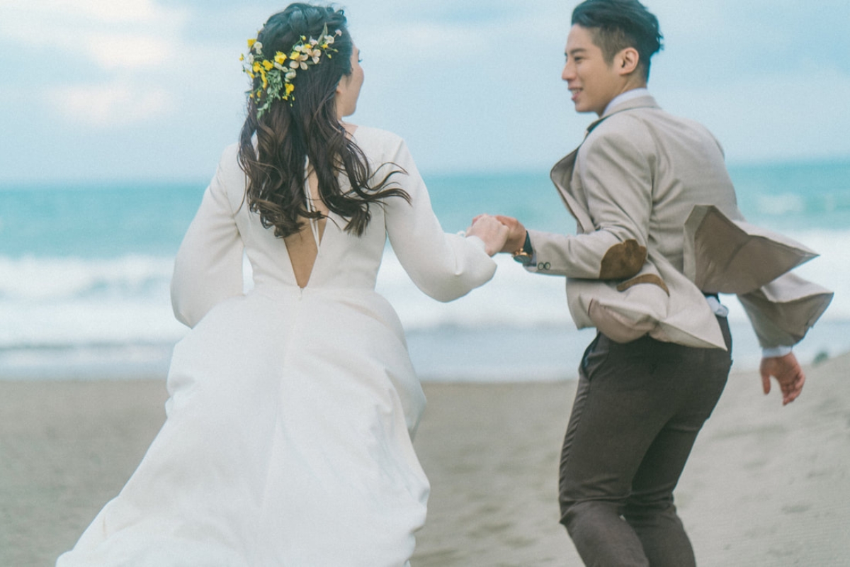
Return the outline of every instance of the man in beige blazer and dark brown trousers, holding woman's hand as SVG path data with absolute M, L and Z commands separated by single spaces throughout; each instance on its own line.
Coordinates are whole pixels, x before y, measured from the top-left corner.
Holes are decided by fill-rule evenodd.
M 673 489 L 731 365 L 721 290 L 685 277 L 695 253 L 683 227 L 694 206 L 742 218 L 717 141 L 662 111 L 647 90 L 661 38 L 638 0 L 575 8 L 562 78 L 575 110 L 599 118 L 552 179 L 580 234 L 500 217 L 509 228 L 501 252 L 530 272 L 566 276 L 576 323 L 600 331 L 581 360 L 559 482 L 561 523 L 588 565 L 695 564 Z M 764 392 L 772 376 L 788 404 L 806 379 L 791 345 L 831 294 L 791 274 L 774 277 L 735 293 L 764 348 Z M 785 313 L 791 299 L 808 302 L 807 313 Z

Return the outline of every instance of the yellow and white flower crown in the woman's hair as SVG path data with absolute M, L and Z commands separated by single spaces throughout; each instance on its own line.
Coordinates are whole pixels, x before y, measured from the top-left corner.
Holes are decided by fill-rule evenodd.
M 250 96 L 257 103 L 257 117 L 263 116 L 263 112 L 269 109 L 269 105 L 275 100 L 288 100 L 292 106 L 292 101 L 295 99 L 295 77 L 297 71 L 307 71 L 312 65 L 317 65 L 322 54 L 326 54 L 328 59 L 331 59 L 331 52 L 337 53 L 337 49 L 332 48 L 335 37 L 343 35 L 343 32 L 337 30 L 334 34 L 328 35 L 327 24 L 322 28 L 319 39 L 306 36 L 301 36 L 298 43 L 292 46 L 292 51 L 286 55 L 282 51 L 275 53 L 271 59 L 266 59 L 263 54 L 263 44 L 256 39 L 248 40 L 248 54 L 242 54 L 239 57 L 242 64 L 242 71 L 245 71 L 251 80 L 259 75 L 262 79 L 262 85 L 257 90 L 252 90 Z M 262 101 L 262 105 L 260 105 Z

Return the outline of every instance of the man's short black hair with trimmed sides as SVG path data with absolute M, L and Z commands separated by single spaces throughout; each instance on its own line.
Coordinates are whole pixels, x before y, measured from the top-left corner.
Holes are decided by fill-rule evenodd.
M 661 50 L 664 36 L 658 18 L 638 0 L 586 0 L 573 10 L 572 24 L 592 30 L 593 43 L 609 63 L 623 49 L 637 49 L 649 79 L 649 59 Z

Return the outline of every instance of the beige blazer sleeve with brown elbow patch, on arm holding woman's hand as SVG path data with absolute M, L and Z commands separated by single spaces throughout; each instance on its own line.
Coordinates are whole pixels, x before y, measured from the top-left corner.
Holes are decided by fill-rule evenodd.
M 638 274 L 647 255 L 653 163 L 639 128 L 587 139 L 575 175 L 587 196 L 593 228 L 580 235 L 529 230 L 536 262 L 530 271 L 615 280 Z

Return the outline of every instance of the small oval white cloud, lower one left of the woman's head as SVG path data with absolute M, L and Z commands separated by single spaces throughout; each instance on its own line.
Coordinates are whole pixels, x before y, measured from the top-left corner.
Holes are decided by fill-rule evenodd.
M 94 128 L 119 128 L 148 121 L 173 108 L 162 88 L 125 83 L 73 85 L 55 89 L 48 101 L 66 121 Z

